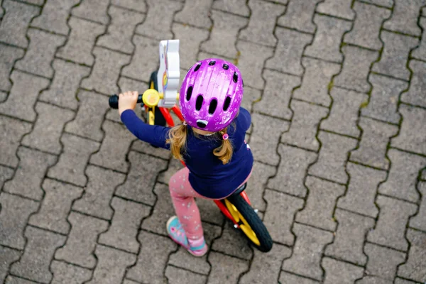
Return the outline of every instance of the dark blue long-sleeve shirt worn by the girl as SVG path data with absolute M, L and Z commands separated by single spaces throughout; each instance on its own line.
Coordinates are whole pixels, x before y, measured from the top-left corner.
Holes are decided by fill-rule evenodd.
M 169 127 L 145 124 L 130 109 L 123 111 L 121 121 L 134 136 L 142 141 L 170 150 L 170 145 L 165 142 Z M 253 168 L 253 155 L 244 142 L 250 124 L 249 111 L 240 108 L 239 115 L 228 128 L 234 153 L 226 165 L 213 154 L 222 140 L 214 139 L 212 136 L 195 135 L 192 128 L 187 126 L 187 151 L 183 158 L 190 170 L 190 184 L 197 193 L 212 199 L 222 199 L 246 180 Z

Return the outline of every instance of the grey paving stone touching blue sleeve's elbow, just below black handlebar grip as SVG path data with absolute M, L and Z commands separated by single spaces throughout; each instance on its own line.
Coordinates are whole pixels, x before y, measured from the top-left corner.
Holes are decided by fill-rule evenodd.
M 90 163 L 127 172 L 129 164 L 126 162 L 126 153 L 134 136 L 126 129 L 126 126 L 112 121 L 104 121 L 102 129 L 105 131 L 105 138 L 99 152 L 90 158 Z

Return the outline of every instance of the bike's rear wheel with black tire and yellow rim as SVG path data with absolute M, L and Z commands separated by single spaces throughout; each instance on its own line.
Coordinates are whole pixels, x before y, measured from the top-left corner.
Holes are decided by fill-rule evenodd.
M 246 200 L 241 195 L 231 195 L 224 203 L 253 246 L 259 251 L 271 251 L 273 242 L 268 229 Z

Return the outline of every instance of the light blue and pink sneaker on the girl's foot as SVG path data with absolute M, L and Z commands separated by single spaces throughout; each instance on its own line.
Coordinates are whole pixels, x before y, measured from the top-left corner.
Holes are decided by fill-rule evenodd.
M 190 245 L 188 242 L 187 236 L 185 235 L 185 230 L 182 228 L 177 216 L 170 217 L 166 224 L 168 235 L 170 236 L 176 244 L 183 246 L 192 256 L 204 256 L 207 253 L 207 244 L 204 241 L 200 241 L 200 245 L 197 244 L 197 241 L 194 241 L 196 246 Z M 191 241 L 192 242 L 192 241 Z

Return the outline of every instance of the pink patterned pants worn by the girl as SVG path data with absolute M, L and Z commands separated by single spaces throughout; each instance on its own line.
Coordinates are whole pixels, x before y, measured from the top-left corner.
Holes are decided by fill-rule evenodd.
M 212 199 L 195 192 L 188 180 L 189 174 L 190 170 L 186 167 L 178 170 L 178 172 L 170 178 L 169 190 L 176 215 L 178 216 L 180 224 L 182 224 L 182 228 L 185 230 L 187 238 L 200 239 L 203 236 L 203 231 L 200 211 L 198 211 L 194 197 L 204 198 L 206 200 Z M 249 180 L 250 175 L 242 184 Z

